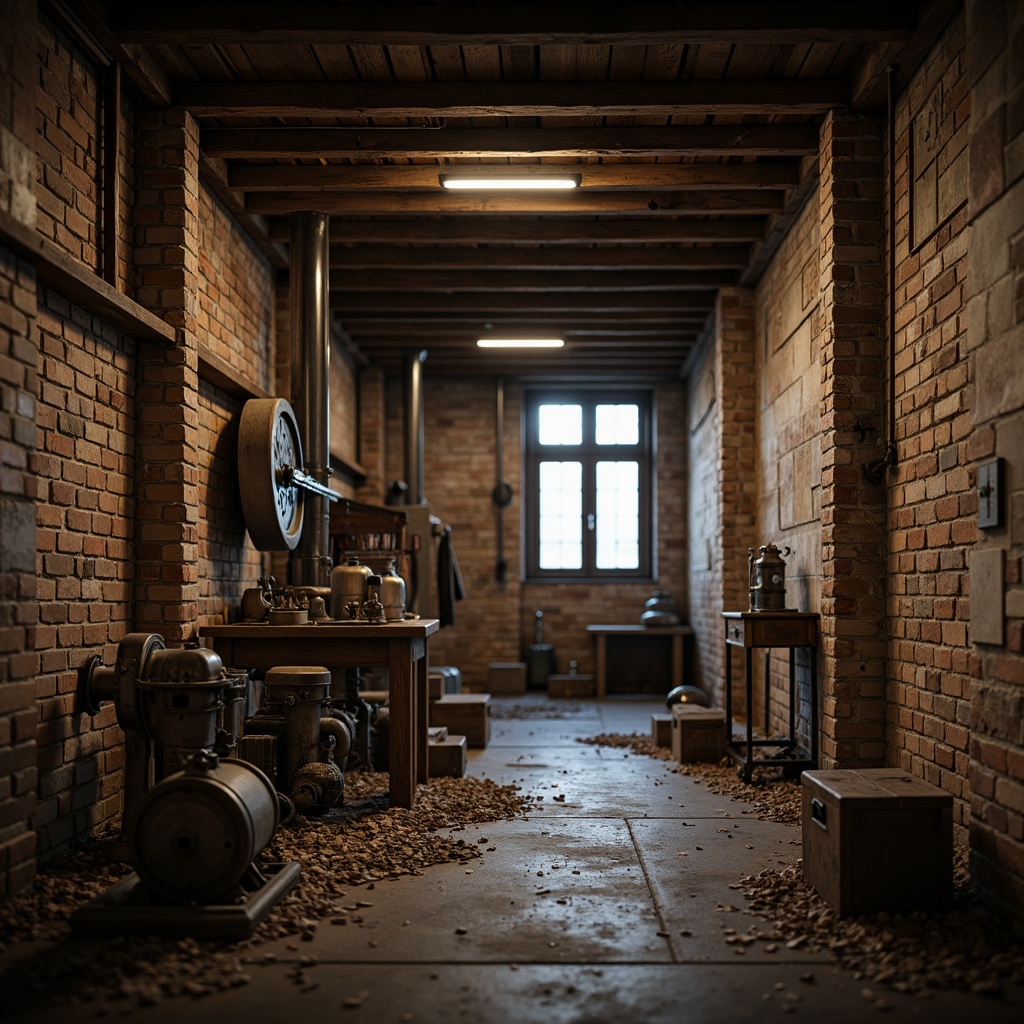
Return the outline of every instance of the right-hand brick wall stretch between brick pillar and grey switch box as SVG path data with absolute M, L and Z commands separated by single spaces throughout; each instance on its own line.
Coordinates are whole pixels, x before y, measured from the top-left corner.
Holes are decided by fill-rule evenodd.
M 963 822 L 971 721 L 966 569 L 977 510 L 968 436 L 965 61 L 957 18 L 896 108 L 897 465 L 888 475 L 886 731 L 889 762 L 951 793 Z

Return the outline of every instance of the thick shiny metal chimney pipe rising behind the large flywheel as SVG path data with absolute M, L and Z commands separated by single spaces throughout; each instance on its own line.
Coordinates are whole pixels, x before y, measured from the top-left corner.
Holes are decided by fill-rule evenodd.
M 324 484 L 331 475 L 328 226 L 326 213 L 292 215 L 292 403 L 302 437 L 303 469 Z M 324 587 L 330 580 L 330 502 L 309 492 L 303 501 L 302 537 L 291 555 L 289 578 L 293 586 Z

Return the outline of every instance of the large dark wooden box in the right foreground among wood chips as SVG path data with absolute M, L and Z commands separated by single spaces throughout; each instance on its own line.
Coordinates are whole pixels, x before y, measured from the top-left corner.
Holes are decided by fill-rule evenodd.
M 805 771 L 801 778 L 804 878 L 840 916 L 948 904 L 948 793 L 898 768 Z

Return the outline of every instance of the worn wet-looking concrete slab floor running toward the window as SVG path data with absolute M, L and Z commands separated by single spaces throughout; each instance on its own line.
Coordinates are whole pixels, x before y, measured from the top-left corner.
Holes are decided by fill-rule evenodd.
M 562 719 L 496 720 L 487 750 L 470 754 L 470 773 L 545 799 L 526 819 L 469 826 L 468 842 L 487 840 L 481 859 L 349 890 L 370 904 L 360 923 L 325 924 L 312 941 L 261 946 L 261 958 L 278 958 L 254 967 L 249 985 L 100 1013 L 150 1024 L 299 1015 L 352 1024 L 762 1024 L 785 1016 L 848 1024 L 880 1016 L 873 993 L 887 999 L 881 1016 L 890 1021 L 1022 1019 L 1020 992 L 1009 1001 L 908 996 L 867 986 L 824 955 L 726 943 L 726 929 L 770 930 L 741 912 L 731 887 L 795 862 L 800 830 L 757 820 L 668 762 L 575 742 L 598 732 L 649 734 L 650 716 L 660 712 L 660 701 L 622 698 Z M 299 986 L 294 972 L 303 961 Z M 94 1005 L 19 1001 L 6 1002 L 13 1015 L 5 1021 L 97 1019 Z

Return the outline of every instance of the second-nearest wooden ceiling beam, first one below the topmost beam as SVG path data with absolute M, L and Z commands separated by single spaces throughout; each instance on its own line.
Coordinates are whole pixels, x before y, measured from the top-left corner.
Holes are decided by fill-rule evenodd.
M 823 114 L 850 104 L 846 79 L 675 82 L 178 82 L 195 117 L 482 118 Z

